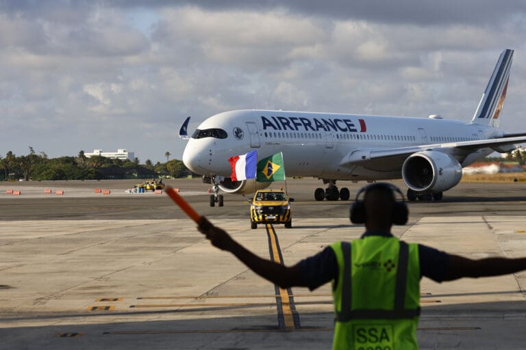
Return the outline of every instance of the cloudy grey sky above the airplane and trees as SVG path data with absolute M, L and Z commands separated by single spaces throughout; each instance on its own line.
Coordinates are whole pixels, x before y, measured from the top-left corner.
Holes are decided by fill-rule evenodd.
M 526 131 L 526 1 L 0 0 L 0 156 L 134 151 L 231 109 L 471 120 L 503 49 Z

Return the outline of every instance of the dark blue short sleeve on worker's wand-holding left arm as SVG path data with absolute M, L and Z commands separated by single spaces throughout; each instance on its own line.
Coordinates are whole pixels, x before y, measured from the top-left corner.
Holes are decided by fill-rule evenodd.
M 331 280 L 338 282 L 338 261 L 331 247 L 301 260 L 297 266 L 303 281 L 311 291 Z

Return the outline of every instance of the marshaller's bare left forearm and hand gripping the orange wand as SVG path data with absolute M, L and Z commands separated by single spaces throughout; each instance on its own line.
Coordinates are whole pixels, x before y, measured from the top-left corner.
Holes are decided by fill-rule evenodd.
M 205 217 L 201 217 L 198 229 L 205 234 L 206 238 L 212 242 L 212 245 L 221 250 L 231 252 L 262 278 L 277 284 L 281 288 L 306 286 L 297 265 L 286 267 L 277 262 L 260 258 L 234 241 L 225 230 L 212 225 Z

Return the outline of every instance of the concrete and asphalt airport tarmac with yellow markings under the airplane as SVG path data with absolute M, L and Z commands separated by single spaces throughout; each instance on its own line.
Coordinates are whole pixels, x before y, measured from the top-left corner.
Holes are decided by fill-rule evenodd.
M 329 284 L 277 288 L 212 247 L 165 193 L 125 193 L 136 182 L 0 183 L 0 349 L 330 349 Z M 292 229 L 251 230 L 248 197 L 211 208 L 199 180 L 168 185 L 285 265 L 364 230 L 349 222 L 351 201 L 314 201 L 323 187 L 314 179 L 287 181 Z M 364 184 L 338 185 L 355 193 Z M 524 183 L 460 183 L 441 202 L 409 207 L 408 225 L 392 230 L 405 241 L 470 258 L 526 256 Z M 526 271 L 423 278 L 421 349 L 524 349 L 525 284 Z

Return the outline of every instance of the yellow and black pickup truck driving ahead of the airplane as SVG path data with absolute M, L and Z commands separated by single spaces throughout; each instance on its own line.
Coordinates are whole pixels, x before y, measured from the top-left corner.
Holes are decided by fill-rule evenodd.
M 260 189 L 254 193 L 250 205 L 250 227 L 258 228 L 258 224 L 285 224 L 292 227 L 292 212 L 286 193 L 279 189 Z

